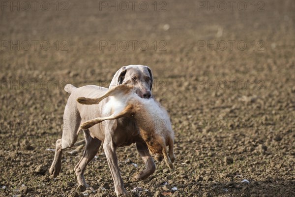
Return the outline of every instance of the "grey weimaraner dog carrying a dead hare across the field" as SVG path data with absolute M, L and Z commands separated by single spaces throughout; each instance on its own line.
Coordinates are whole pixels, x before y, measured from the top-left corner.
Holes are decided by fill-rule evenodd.
M 130 65 L 121 67 L 114 75 L 110 87 L 115 87 L 119 84 L 133 84 L 140 88 L 137 94 L 141 98 L 151 97 L 151 88 L 153 76 L 151 69 L 148 66 Z M 56 152 L 54 161 L 49 169 L 53 177 L 59 175 L 61 167 L 61 154 L 66 148 L 72 147 L 77 141 L 80 131 L 81 122 L 94 119 L 96 117 L 105 117 L 111 115 L 111 112 L 103 110 L 105 103 L 110 98 L 102 100 L 97 105 L 83 105 L 77 102 L 79 97 L 98 98 L 109 89 L 88 85 L 76 88 L 73 85 L 66 85 L 65 91 L 70 93 L 63 114 L 63 119 L 67 121 L 67 127 L 63 128 L 62 137 L 56 142 Z M 78 179 L 79 185 L 87 184 L 84 179 L 84 171 L 86 165 L 94 158 L 101 143 L 112 173 L 115 184 L 115 192 L 117 196 L 127 195 L 123 181 L 118 168 L 116 155 L 117 147 L 128 146 L 136 143 L 136 148 L 146 164 L 146 168 L 134 175 L 135 180 L 143 180 L 151 175 L 156 166 L 149 154 L 148 146 L 140 135 L 139 128 L 133 117 L 122 117 L 116 120 L 106 120 L 99 123 L 88 130 L 83 130 L 86 139 L 86 147 L 83 157 L 75 166 L 74 170 Z

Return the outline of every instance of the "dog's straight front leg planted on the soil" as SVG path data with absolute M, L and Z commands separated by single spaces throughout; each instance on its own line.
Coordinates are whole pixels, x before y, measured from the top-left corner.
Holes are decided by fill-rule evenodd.
M 108 164 L 109 164 L 112 177 L 114 180 L 115 192 L 117 196 L 127 195 L 124 189 L 123 180 L 121 178 L 119 167 L 118 167 L 116 148 L 117 147 L 114 145 L 112 138 L 110 136 L 106 136 L 105 141 L 103 143 L 103 149 L 107 157 Z

